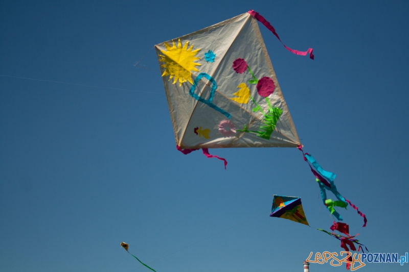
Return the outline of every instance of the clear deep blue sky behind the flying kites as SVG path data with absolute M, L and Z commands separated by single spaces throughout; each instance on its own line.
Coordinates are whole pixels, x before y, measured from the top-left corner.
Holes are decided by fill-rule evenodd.
M 340 211 L 350 233 L 409 251 L 409 2 L 1 1 L 1 271 L 149 271 L 121 241 L 157 272 L 302 271 L 342 250 L 315 230 L 333 220 L 300 151 L 210 150 L 227 170 L 181 154 L 154 51 L 133 66 L 249 9 L 314 48 L 260 25 L 304 150 L 368 217 Z M 273 194 L 301 196 L 311 228 L 269 217 Z M 310 265 L 329 270 L 345 266 Z

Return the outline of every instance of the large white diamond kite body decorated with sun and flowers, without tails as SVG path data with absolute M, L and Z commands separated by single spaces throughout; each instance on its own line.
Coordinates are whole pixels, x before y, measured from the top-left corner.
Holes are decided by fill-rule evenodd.
M 182 149 L 301 144 L 252 14 L 155 48 Z

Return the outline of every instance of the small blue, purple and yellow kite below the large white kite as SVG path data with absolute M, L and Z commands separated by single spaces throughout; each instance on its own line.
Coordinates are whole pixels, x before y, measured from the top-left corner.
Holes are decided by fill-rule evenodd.
M 270 216 L 289 219 L 309 226 L 301 205 L 301 197 L 275 194 Z

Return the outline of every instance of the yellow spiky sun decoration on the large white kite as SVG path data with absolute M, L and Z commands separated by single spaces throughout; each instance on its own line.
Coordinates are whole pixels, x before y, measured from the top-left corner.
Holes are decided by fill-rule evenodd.
M 161 50 L 164 55 L 159 55 L 161 57 L 160 61 L 165 62 L 165 64 L 161 66 L 165 68 L 162 77 L 170 75 L 169 80 L 174 78 L 173 84 L 175 84 L 176 81 L 179 80 L 179 86 L 181 86 L 182 83 L 186 81 L 189 81 L 191 84 L 193 84 L 191 71 L 199 71 L 196 66 L 199 66 L 201 64 L 194 61 L 200 59 L 198 57 L 195 57 L 200 49 L 192 51 L 193 44 L 188 49 L 189 41 L 187 41 L 182 47 L 180 39 L 177 42 L 177 46 L 175 45 L 174 41 L 172 41 L 172 43 L 173 46 L 170 46 L 165 42 L 166 51 Z

